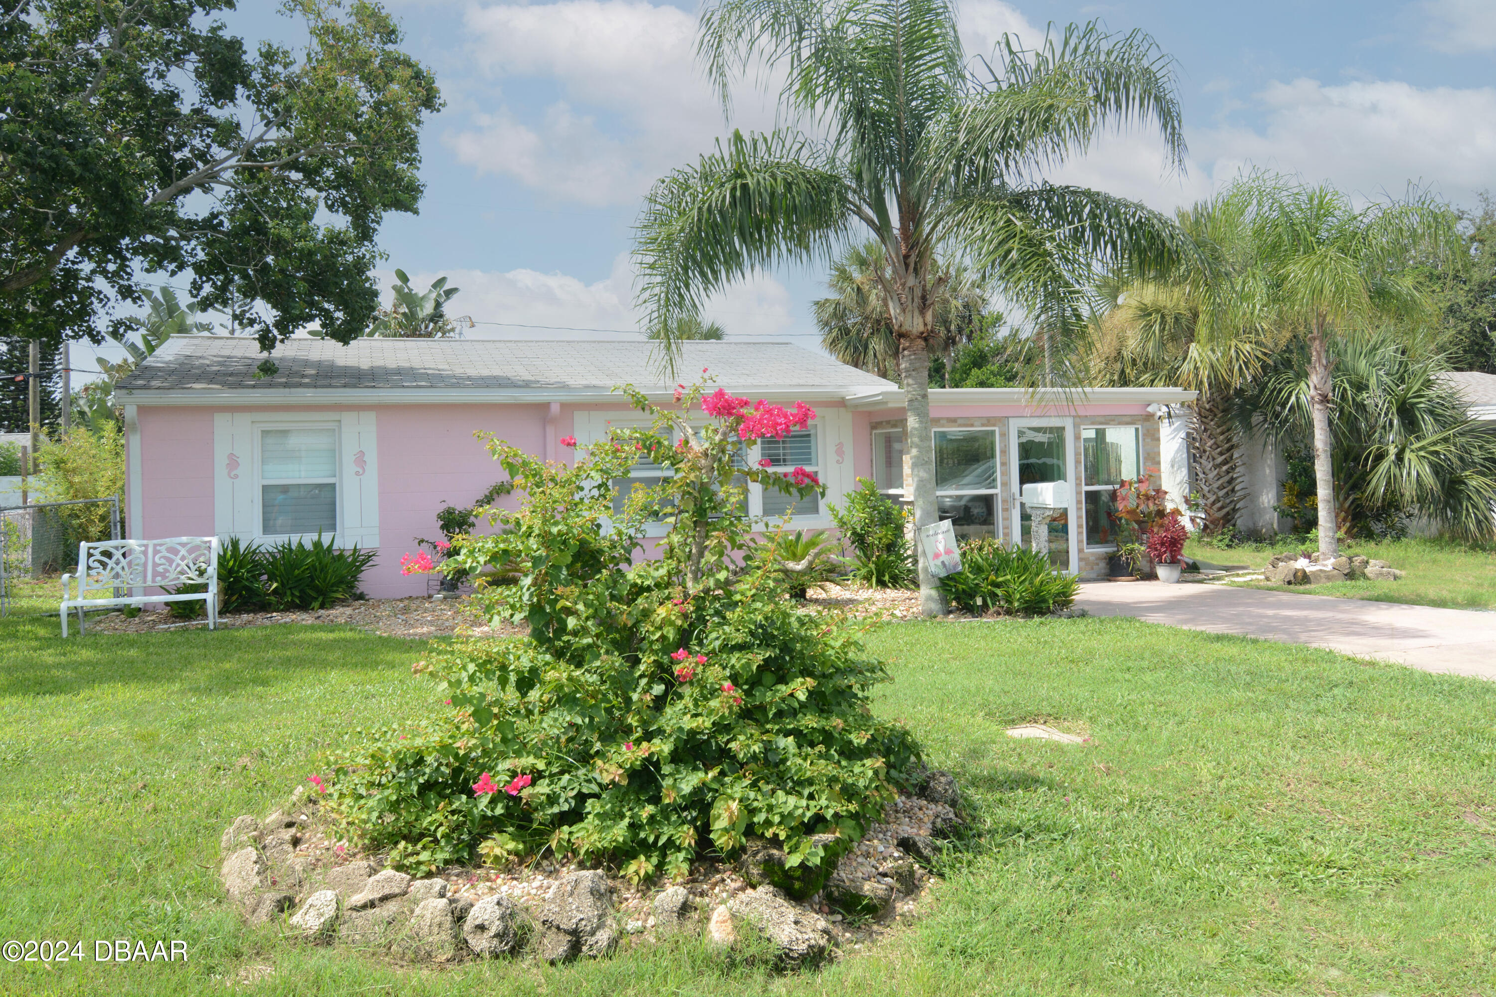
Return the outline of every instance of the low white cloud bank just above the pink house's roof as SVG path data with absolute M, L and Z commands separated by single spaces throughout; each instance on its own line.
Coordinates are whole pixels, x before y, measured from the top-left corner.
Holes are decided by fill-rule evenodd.
M 392 271 L 377 277 L 381 287 L 395 280 Z M 606 278 L 591 284 L 567 274 L 530 269 L 422 272 L 410 274 L 410 283 L 423 288 L 438 277 L 446 277 L 449 287 L 461 288 L 447 305 L 447 314 L 468 315 L 477 323 L 476 329 L 464 332 L 468 338 L 639 338 L 630 332 L 640 327 L 640 315 L 633 306 L 634 272 L 625 253 L 613 260 Z M 712 296 L 703 314 L 721 323 L 729 336 L 775 336 L 796 326 L 788 288 L 766 274 L 755 274 Z

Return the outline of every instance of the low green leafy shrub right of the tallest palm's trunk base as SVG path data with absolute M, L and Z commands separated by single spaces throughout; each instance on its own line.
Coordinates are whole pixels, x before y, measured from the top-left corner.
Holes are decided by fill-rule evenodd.
M 1040 616 L 1070 608 L 1080 580 L 1053 571 L 1046 555 L 983 538 L 960 546 L 960 571 L 941 578 L 941 589 L 968 613 Z

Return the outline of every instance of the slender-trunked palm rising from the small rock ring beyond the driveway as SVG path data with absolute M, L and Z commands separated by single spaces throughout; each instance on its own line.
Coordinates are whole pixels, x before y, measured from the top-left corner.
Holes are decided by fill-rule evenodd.
M 1339 541 L 1330 344 L 1390 318 L 1430 324 L 1438 318 L 1414 265 L 1459 251 L 1454 218 L 1426 194 L 1357 208 L 1330 184 L 1264 173 L 1237 184 L 1231 196 L 1248 217 L 1264 305 L 1279 327 L 1302 333 L 1309 347 L 1319 550 L 1333 556 Z

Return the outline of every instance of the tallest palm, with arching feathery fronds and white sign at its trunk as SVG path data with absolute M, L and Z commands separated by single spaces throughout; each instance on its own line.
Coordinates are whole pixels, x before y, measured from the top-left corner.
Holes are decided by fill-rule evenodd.
M 1098 263 L 1171 260 L 1167 218 L 1040 176 L 1104 127 L 1137 120 L 1156 123 L 1182 161 L 1171 60 L 1147 34 L 1092 22 L 1037 49 L 1004 36 L 972 67 L 947 0 L 715 0 L 697 54 L 724 114 L 735 79 L 766 66 L 785 73 L 784 120 L 811 121 L 824 138 L 790 126 L 733 132 L 655 184 L 636 245 L 649 326 L 696 312 L 754 268 L 824 260 L 854 232 L 871 235 L 886 260 L 878 284 L 905 390 L 914 523 L 935 523 L 929 348 L 945 280 L 936 253 L 990 277 L 1052 338 L 1085 327 L 1080 288 Z M 923 558 L 920 604 L 944 611 Z

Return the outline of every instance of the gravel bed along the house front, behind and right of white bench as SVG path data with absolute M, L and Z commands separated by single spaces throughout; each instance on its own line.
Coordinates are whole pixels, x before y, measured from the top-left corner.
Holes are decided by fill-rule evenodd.
M 362 599 L 341 602 L 326 610 L 284 613 L 224 613 L 218 626 L 269 626 L 272 623 L 343 623 L 386 637 L 450 637 L 458 632 L 474 637 L 515 637 L 525 631 L 518 626 L 489 626 L 477 604 L 470 598 L 432 599 L 413 595 L 404 599 Z M 124 613 L 109 613 L 88 620 L 88 631 L 97 634 L 150 634 L 166 629 L 206 628 L 208 620 L 178 620 L 166 610 L 142 611 L 133 620 Z

